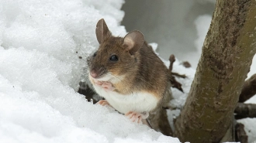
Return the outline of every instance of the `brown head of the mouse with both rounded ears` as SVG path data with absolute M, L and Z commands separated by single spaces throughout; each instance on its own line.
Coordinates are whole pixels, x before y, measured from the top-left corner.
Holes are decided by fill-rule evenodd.
M 140 64 L 139 49 L 144 44 L 144 35 L 137 30 L 124 38 L 112 36 L 104 19 L 96 26 L 99 49 L 88 57 L 91 77 L 102 80 L 121 80 L 127 73 L 137 71 Z

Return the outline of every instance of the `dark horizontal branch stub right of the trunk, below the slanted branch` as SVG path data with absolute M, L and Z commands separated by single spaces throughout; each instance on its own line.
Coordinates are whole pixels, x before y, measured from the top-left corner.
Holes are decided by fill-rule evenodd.
M 256 104 L 238 103 L 234 113 L 236 119 L 256 117 Z

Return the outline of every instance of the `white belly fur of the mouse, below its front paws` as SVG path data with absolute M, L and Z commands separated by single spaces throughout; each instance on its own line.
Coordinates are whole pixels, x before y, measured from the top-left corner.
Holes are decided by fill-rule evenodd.
M 93 85 L 93 87 L 95 87 L 99 96 L 104 97 L 112 107 L 123 114 L 129 111 L 149 112 L 157 107 L 157 97 L 146 92 L 123 95 L 115 91 L 106 91 L 96 85 Z

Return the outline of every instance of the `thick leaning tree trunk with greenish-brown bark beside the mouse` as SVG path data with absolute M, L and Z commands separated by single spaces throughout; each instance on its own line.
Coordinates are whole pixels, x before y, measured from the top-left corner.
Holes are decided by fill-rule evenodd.
M 175 122 L 180 141 L 234 139 L 234 109 L 255 53 L 255 5 L 255 0 L 217 0 L 189 97 Z

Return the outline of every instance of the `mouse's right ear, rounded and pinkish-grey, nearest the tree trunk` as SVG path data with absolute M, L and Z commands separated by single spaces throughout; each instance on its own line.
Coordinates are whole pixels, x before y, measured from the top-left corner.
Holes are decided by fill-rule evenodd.
M 139 50 L 143 45 L 143 43 L 144 35 L 138 30 L 129 32 L 123 39 L 123 44 L 126 46 L 126 49 L 128 49 L 131 55 L 136 53 L 137 50 Z

